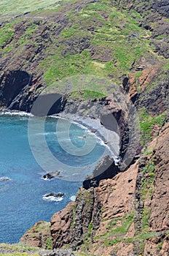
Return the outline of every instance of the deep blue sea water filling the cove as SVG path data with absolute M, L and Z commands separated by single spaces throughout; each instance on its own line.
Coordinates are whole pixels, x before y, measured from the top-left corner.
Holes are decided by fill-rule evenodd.
M 95 149 L 84 156 L 77 156 L 76 152 L 69 154 L 66 150 L 69 145 L 68 138 L 64 133 L 66 120 L 60 124 L 58 134 L 55 128 L 57 121 L 57 118 L 47 118 L 44 137 L 53 157 L 63 162 L 67 169 L 62 178 L 44 181 L 42 176 L 47 170 L 43 170 L 32 154 L 32 148 L 35 148 L 44 162 L 49 161 L 43 143 L 41 145 L 43 135 L 41 131 L 39 132 L 40 118 L 35 119 L 34 125 L 31 126 L 29 136 L 34 145 L 30 148 L 28 117 L 0 116 L 0 177 L 10 178 L 9 181 L 0 181 L 0 243 L 17 243 L 23 233 L 35 222 L 50 221 L 52 214 L 64 208 L 71 200 L 71 196 L 76 195 L 78 188 L 82 185 L 81 178 L 79 181 L 74 181 L 74 178 L 69 180 L 68 176 L 77 176 L 79 171 L 79 177 L 81 177 L 81 167 L 85 173 L 105 150 L 105 146 L 96 143 Z M 71 124 L 69 136 L 72 145 L 76 148 L 84 146 L 85 141 L 79 136 L 85 135 L 86 132 L 82 127 Z M 60 146 L 58 140 L 62 141 L 64 148 Z M 47 166 L 50 167 L 50 162 Z M 53 170 L 52 167 L 51 165 L 50 170 Z M 77 167 L 76 173 L 73 167 Z M 61 169 L 60 165 L 59 170 Z M 58 170 L 58 166 L 55 170 Z M 43 200 L 43 195 L 49 192 L 63 192 L 65 196 L 60 201 Z

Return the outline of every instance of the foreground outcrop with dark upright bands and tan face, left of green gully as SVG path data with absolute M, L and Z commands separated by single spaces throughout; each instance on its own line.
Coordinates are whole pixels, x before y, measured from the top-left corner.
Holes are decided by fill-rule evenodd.
M 119 218 L 120 226 L 121 218 L 134 210 L 137 171 L 138 164 L 135 163 L 125 173 L 100 181 L 99 187 L 79 189 L 76 202 L 69 203 L 51 219 L 53 246 L 60 248 L 71 244 L 73 249 L 78 249 L 82 244 L 88 244 L 90 247 L 92 242 L 93 245 L 89 249 L 91 252 L 96 248 L 96 252 L 103 252 L 101 240 L 107 228 L 110 228 L 111 220 Z M 100 238 L 95 240 L 96 236 Z M 108 252 L 109 249 L 105 255 L 108 255 Z

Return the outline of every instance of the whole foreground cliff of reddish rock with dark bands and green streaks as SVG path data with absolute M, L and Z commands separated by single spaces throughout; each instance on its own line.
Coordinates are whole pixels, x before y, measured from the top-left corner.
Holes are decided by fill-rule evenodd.
M 53 248 L 76 249 L 84 255 L 168 255 L 169 124 L 124 173 L 79 189 L 76 202 L 50 222 Z M 36 227 L 36 226 L 35 226 Z M 34 233 L 34 231 L 33 231 Z M 42 244 L 32 230 L 21 241 Z M 45 234 L 46 236 L 46 234 Z

